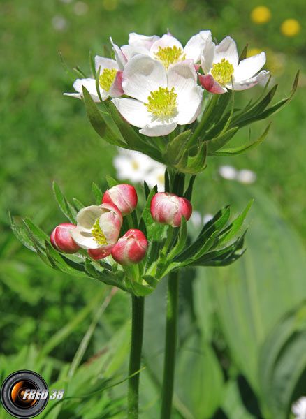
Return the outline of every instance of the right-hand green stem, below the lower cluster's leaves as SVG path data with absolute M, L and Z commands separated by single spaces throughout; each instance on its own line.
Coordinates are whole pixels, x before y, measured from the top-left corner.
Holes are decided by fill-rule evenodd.
M 170 419 L 171 415 L 177 348 L 178 291 L 178 272 L 170 272 L 168 277 L 166 344 L 163 363 L 163 385 L 161 390 L 161 419 Z

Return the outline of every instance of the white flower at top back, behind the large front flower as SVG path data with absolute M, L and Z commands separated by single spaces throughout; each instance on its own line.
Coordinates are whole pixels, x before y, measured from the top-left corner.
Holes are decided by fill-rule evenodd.
M 185 47 L 171 34 L 164 34 L 159 38 L 156 35 L 145 36 L 132 33 L 129 34 L 129 45 L 123 45 L 121 50 L 127 61 L 136 54 L 147 54 L 168 68 L 171 64 L 186 59 L 192 59 L 196 64 L 201 59 L 201 52 L 207 40 L 211 40 L 210 31 L 200 31 L 191 36 Z

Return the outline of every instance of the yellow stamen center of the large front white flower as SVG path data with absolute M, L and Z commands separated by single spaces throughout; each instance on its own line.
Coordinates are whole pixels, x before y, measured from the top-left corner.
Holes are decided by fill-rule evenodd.
M 158 90 L 150 91 L 151 96 L 147 97 L 148 112 L 154 115 L 171 115 L 175 106 L 177 94 L 174 92 L 174 87 L 169 90 L 168 87 L 159 87 Z

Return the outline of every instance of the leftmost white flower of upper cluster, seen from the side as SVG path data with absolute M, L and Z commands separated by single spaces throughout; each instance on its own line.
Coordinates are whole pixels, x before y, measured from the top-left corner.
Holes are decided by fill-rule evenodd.
M 94 57 L 94 64 L 96 71 L 100 68 L 99 89 L 102 100 L 105 101 L 109 96 L 112 98 L 122 96 L 122 71 L 119 71 L 117 61 L 115 61 L 115 59 L 104 58 L 96 55 L 96 57 Z M 100 102 L 96 91 L 96 80 L 94 78 L 75 80 L 73 88 L 78 91 L 78 93 L 64 93 L 64 95 L 80 99 L 83 96 L 82 86 L 86 87 L 89 91 L 93 101 Z

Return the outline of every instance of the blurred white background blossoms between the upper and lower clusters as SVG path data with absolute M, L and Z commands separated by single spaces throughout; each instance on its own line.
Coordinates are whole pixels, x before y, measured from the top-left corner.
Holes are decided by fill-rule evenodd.
M 150 188 L 157 185 L 159 192 L 164 190 L 166 166 L 150 159 L 140 152 L 119 149 L 119 154 L 112 161 L 117 170 L 119 180 L 129 180 L 132 183 L 147 182 Z

